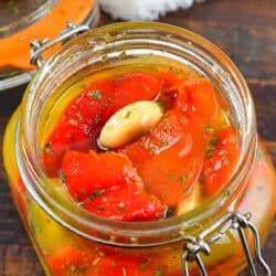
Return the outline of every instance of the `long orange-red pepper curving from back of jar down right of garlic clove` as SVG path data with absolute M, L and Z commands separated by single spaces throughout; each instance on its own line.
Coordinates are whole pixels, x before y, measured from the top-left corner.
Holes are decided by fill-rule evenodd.
M 178 79 L 166 94 L 172 107 L 152 131 L 124 152 L 137 166 L 149 193 L 169 206 L 191 192 L 199 179 L 205 147 L 219 113 L 212 84 L 204 78 Z

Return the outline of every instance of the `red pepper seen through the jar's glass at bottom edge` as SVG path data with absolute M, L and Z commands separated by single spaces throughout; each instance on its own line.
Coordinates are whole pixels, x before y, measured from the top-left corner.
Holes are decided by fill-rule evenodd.
M 156 255 L 115 255 L 94 248 L 81 250 L 74 246 L 60 248 L 47 257 L 52 273 L 59 276 L 169 275 L 168 267 L 160 267 L 157 261 Z

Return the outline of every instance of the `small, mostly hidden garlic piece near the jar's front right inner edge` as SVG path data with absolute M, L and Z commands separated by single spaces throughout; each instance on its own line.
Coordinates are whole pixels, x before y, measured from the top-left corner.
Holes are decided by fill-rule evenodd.
M 192 192 L 183 198 L 178 204 L 176 209 L 176 215 L 181 215 L 192 211 L 195 206 L 201 204 L 202 202 L 202 192 L 200 183 L 197 182 Z

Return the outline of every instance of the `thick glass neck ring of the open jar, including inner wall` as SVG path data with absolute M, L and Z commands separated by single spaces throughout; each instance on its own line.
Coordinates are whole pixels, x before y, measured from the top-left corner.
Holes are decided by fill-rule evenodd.
M 233 173 L 224 189 L 187 214 L 142 223 L 105 220 L 81 210 L 57 193 L 43 172 L 38 134 L 43 124 L 42 115 L 51 109 L 47 99 L 51 96 L 59 99 L 59 88 L 67 79 L 75 79 L 81 71 L 91 74 L 124 62 L 121 51 L 126 53 L 127 62 L 137 56 L 153 55 L 191 66 L 211 79 L 234 118 L 241 152 Z M 105 59 L 100 59 L 102 55 Z M 229 57 L 212 43 L 187 30 L 160 23 L 131 22 L 87 32 L 45 62 L 29 85 L 21 105 L 15 152 L 30 194 L 59 223 L 96 242 L 146 247 L 181 241 L 184 235 L 200 232 L 203 225 L 205 227 L 206 223 L 234 209 L 254 163 L 255 148 L 252 97 L 243 76 Z

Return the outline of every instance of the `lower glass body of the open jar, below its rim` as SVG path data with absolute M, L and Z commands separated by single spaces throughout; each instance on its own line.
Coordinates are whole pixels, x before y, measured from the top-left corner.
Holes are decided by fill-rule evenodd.
M 182 275 L 183 243 L 152 248 L 120 248 L 81 237 L 47 215 L 31 198 L 15 162 L 15 124 L 19 112 L 10 120 L 4 137 L 3 157 L 13 201 L 33 246 L 49 275 Z M 269 232 L 275 214 L 276 179 L 272 161 L 258 140 L 254 169 L 246 192 L 236 211 L 251 212 L 262 244 Z M 263 199 L 266 199 L 265 201 Z M 258 204 L 262 202 L 262 204 Z M 227 206 L 224 206 L 226 213 Z M 204 227 L 204 225 L 203 225 Z M 253 240 L 250 237 L 253 251 Z M 246 259 L 237 233 L 231 232 L 211 245 L 211 256 L 204 258 L 210 275 L 236 275 Z M 195 268 L 194 268 L 195 269 Z M 114 274 L 112 274 L 114 273 Z M 159 274 L 158 274 L 159 273 Z

